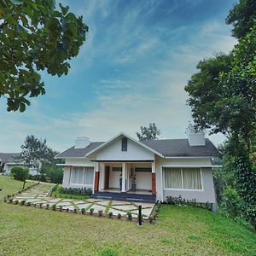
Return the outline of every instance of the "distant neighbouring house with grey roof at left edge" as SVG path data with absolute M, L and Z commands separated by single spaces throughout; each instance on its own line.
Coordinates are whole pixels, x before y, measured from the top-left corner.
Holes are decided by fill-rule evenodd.
M 20 153 L 0 153 L 0 173 L 9 175 L 14 166 L 25 166 L 17 158 Z M 37 175 L 36 168 L 29 168 L 29 174 L 32 176 Z

